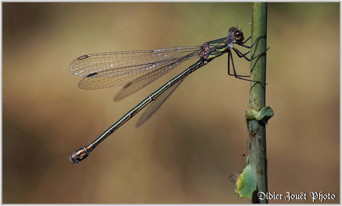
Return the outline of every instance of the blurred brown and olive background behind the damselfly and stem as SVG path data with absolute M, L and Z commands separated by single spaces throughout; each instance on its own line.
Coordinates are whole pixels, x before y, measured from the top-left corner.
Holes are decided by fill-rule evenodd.
M 2 203 L 250 203 L 228 179 L 248 154 L 250 83 L 227 75 L 226 55 L 143 126 L 138 114 L 80 164 L 68 160 L 194 63 L 113 102 L 121 87 L 77 87 L 74 59 L 197 46 L 236 24 L 248 37 L 250 12 L 251 3 L 231 2 L 3 2 Z M 340 3 L 269 3 L 267 45 L 268 191 L 308 194 L 269 203 L 312 203 L 309 193 L 321 191 L 336 195 L 322 203 L 340 203 Z

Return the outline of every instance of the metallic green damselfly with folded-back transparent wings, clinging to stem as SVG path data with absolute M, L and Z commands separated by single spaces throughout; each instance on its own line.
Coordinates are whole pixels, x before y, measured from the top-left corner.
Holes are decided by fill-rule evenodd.
M 247 61 L 252 61 L 259 55 L 248 59 L 247 53 L 242 53 L 236 49 L 233 44 L 245 48 L 252 48 L 254 44 L 263 37 L 258 37 L 251 46 L 245 45 L 250 37 L 244 41 L 244 35 L 241 30 L 232 27 L 228 30 L 228 36 L 222 39 L 208 41 L 202 46 L 195 47 L 172 47 L 167 49 L 158 49 L 153 51 L 126 51 L 126 52 L 110 52 L 89 54 L 78 57 L 70 64 L 70 72 L 84 77 L 78 84 L 82 89 L 100 89 L 125 85 L 114 97 L 115 101 L 119 101 L 134 92 L 139 91 L 149 83 L 155 81 L 172 69 L 180 65 L 186 60 L 199 60 L 185 69 L 181 74 L 177 75 L 157 91 L 150 94 L 141 103 L 130 110 L 126 115 L 119 119 L 114 125 L 103 132 L 100 137 L 93 142 L 76 150 L 70 157 L 70 161 L 79 163 L 86 158 L 89 153 L 106 139 L 111 133 L 117 130 L 121 125 L 126 123 L 130 118 L 136 115 L 142 108 L 151 105 L 143 113 L 137 121 L 136 126 L 143 124 L 151 117 L 170 94 L 183 82 L 183 80 L 196 69 L 208 64 L 210 61 L 224 53 L 228 53 L 228 75 L 235 76 L 238 79 L 244 79 L 253 82 L 259 82 L 250 79 L 247 75 L 238 75 L 234 68 L 232 50 L 238 57 L 244 57 Z M 265 82 L 259 82 L 265 85 Z M 155 100 L 155 101 L 154 101 Z

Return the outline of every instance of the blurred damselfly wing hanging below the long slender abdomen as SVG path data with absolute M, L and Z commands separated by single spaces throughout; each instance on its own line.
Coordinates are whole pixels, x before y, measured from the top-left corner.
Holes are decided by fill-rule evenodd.
M 145 121 L 147 121 L 159 109 L 159 107 L 168 99 L 168 97 L 172 94 L 172 92 L 181 85 L 181 83 L 184 81 L 186 77 L 187 76 L 185 76 L 179 82 L 175 83 L 172 87 L 170 87 L 164 93 L 160 94 L 156 100 L 151 102 L 150 105 L 145 110 L 145 112 L 141 115 L 141 117 L 137 121 L 135 127 L 139 127 L 142 124 L 144 124 Z

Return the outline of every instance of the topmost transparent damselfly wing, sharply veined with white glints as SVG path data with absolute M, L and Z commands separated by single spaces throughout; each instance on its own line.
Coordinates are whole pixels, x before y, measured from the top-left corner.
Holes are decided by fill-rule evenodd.
M 195 56 L 200 47 L 172 47 L 154 51 L 126 51 L 89 54 L 74 60 L 69 70 L 83 77 L 118 77 L 121 84 L 133 82 L 141 76 L 157 74 L 160 69 L 167 69 L 182 57 Z M 192 55 L 189 55 L 192 54 Z M 122 78 L 120 78 L 122 77 Z M 126 78 L 124 78 L 126 77 Z

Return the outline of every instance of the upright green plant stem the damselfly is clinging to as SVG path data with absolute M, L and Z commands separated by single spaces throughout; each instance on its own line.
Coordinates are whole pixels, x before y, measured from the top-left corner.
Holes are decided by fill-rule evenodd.
M 254 42 L 259 36 L 267 31 L 267 3 L 252 3 L 252 39 Z M 265 51 L 266 35 L 258 40 L 251 51 L 251 57 Z M 266 83 L 266 53 L 251 62 L 251 79 Z M 257 114 L 265 107 L 266 85 L 251 82 L 249 111 Z M 253 203 L 268 203 L 267 199 L 260 200 L 258 192 L 267 192 L 267 159 L 266 159 L 266 128 L 263 121 L 250 120 L 247 123 L 250 142 L 250 165 L 251 171 L 257 183 L 257 191 L 253 194 Z

